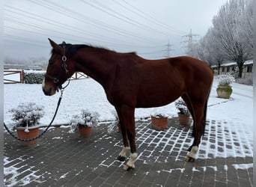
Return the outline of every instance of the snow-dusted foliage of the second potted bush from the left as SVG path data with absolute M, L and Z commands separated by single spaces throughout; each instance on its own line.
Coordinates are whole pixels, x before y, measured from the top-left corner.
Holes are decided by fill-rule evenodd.
M 96 111 L 82 110 L 81 114 L 73 115 L 70 120 L 70 132 L 74 132 L 78 126 L 96 126 L 100 114 Z

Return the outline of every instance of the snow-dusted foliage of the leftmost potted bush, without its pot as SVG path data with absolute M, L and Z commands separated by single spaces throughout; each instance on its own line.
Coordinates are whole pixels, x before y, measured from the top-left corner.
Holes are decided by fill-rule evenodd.
M 12 120 L 16 122 L 16 126 L 35 126 L 43 117 L 43 106 L 36 105 L 34 102 L 21 102 L 17 108 L 10 109 L 13 113 Z

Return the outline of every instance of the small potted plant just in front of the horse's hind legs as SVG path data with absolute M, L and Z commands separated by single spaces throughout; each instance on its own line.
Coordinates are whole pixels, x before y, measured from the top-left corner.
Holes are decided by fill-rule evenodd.
M 175 107 L 179 110 L 178 118 L 180 121 L 180 125 L 186 126 L 189 125 L 189 110 L 186 107 L 186 103 L 183 99 L 179 98 L 175 101 Z

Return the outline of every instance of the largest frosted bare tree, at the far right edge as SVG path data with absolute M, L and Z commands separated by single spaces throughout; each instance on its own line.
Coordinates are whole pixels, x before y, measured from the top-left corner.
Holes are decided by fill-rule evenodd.
M 242 77 L 244 62 L 252 59 L 252 28 L 249 25 L 252 14 L 247 13 L 251 3 L 252 0 L 228 1 L 213 17 L 212 34 L 219 52 L 237 62 L 239 77 Z

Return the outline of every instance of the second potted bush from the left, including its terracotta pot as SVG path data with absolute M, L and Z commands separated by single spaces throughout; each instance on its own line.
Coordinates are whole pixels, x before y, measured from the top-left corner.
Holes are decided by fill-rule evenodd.
M 96 126 L 99 122 L 100 114 L 87 110 L 82 110 L 80 115 L 73 115 L 70 120 L 70 132 L 79 130 L 79 134 L 83 137 L 91 135 L 92 126 Z

